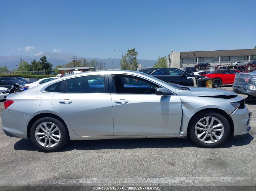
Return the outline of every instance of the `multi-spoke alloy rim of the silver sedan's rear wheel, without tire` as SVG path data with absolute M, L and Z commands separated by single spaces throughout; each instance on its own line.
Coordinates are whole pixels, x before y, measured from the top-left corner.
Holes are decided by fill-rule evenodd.
M 35 129 L 35 138 L 43 147 L 56 146 L 61 139 L 61 132 L 57 125 L 52 122 L 43 122 Z

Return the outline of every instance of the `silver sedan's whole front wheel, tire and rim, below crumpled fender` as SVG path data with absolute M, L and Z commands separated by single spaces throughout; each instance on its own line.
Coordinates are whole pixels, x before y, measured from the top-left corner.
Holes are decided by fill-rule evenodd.
M 219 113 L 199 113 L 189 128 L 191 140 L 204 148 L 215 148 L 228 139 L 230 126 L 228 120 Z

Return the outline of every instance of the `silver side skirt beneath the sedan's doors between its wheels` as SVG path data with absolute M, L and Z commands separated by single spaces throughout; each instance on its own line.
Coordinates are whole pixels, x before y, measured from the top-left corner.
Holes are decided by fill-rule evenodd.
M 112 136 L 76 136 L 70 137 L 75 140 L 97 140 L 97 139 L 118 139 L 118 138 L 186 138 L 187 135 L 112 135 Z

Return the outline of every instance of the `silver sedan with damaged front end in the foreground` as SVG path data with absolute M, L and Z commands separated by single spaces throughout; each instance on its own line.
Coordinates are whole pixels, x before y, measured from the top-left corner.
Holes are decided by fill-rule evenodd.
M 66 75 L 10 94 L 2 113 L 6 135 L 57 151 L 68 140 L 190 137 L 206 148 L 251 129 L 236 93 L 176 87 L 142 72 Z

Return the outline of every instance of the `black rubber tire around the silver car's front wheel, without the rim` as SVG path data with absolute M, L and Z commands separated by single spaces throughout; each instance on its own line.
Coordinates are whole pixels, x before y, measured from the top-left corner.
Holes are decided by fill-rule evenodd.
M 222 138 L 215 142 L 215 143 L 204 143 L 204 142 L 201 142 L 198 138 L 197 138 L 197 135 L 195 134 L 195 126 L 196 126 L 196 123 L 204 118 L 204 117 L 215 117 L 217 118 L 218 120 L 221 121 L 222 125 L 223 125 L 223 128 L 224 128 L 224 132 L 223 132 L 223 136 Z M 216 148 L 216 147 L 219 147 L 220 145 L 224 144 L 224 142 L 227 141 L 229 135 L 230 135 L 230 125 L 228 123 L 228 120 L 223 116 L 221 115 L 220 113 L 216 113 L 214 111 L 208 111 L 208 112 L 202 112 L 202 113 L 198 113 L 196 116 L 194 116 L 194 118 L 192 119 L 191 123 L 190 123 L 190 127 L 188 129 L 188 135 L 189 137 L 191 138 L 191 140 L 196 144 L 198 145 L 199 147 L 203 147 L 203 148 Z

